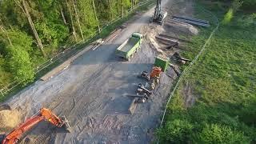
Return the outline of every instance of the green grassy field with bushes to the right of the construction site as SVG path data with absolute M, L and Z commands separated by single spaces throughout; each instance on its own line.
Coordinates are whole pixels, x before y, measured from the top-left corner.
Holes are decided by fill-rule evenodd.
M 227 11 L 209 2 L 196 5 L 219 19 Z M 160 143 L 256 142 L 256 29 L 255 19 L 246 21 L 249 17 L 239 11 L 230 23 L 221 24 L 171 99 L 165 122 L 156 132 Z M 208 34 L 202 30 L 189 47 L 198 50 Z

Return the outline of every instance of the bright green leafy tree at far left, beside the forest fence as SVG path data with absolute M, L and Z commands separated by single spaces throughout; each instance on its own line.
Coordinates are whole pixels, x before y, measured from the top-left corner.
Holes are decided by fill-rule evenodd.
M 32 38 L 20 30 L 6 30 L 10 42 L 2 41 L 5 44 L 5 58 L 7 70 L 14 75 L 14 79 L 25 85 L 34 80 L 34 68 L 30 58 L 32 51 Z

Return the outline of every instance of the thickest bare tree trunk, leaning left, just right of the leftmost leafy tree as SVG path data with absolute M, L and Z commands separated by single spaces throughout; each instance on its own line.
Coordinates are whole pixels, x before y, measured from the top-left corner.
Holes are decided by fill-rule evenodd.
M 31 28 L 31 30 L 33 31 L 34 38 L 36 39 L 36 41 L 37 41 L 37 43 L 38 43 L 38 48 L 41 50 L 42 55 L 43 55 L 44 57 L 46 57 L 46 53 L 45 53 L 45 51 L 43 50 L 43 46 L 42 46 L 41 39 L 39 38 L 38 32 L 37 32 L 37 30 L 36 30 L 35 27 L 34 27 L 34 23 L 33 23 L 32 18 L 31 18 L 31 16 L 30 16 L 29 10 L 27 9 L 25 0 L 22 0 L 22 6 L 23 6 L 23 10 L 24 10 L 24 12 L 25 12 L 25 14 L 26 14 L 26 18 L 27 18 L 27 20 L 28 20 L 29 23 L 30 23 L 30 28 Z

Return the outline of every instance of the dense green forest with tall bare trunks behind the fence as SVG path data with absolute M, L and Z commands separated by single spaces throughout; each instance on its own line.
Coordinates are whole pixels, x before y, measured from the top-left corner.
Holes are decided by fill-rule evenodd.
M 0 89 L 33 82 L 34 68 L 122 17 L 138 0 L 0 1 Z

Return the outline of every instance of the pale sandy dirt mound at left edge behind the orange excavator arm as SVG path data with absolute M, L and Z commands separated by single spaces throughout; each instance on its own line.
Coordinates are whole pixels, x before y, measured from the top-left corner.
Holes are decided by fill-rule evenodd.
M 14 129 L 21 122 L 21 116 L 18 110 L 0 111 L 0 132 L 6 132 Z

